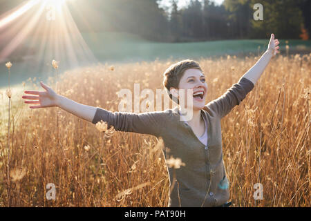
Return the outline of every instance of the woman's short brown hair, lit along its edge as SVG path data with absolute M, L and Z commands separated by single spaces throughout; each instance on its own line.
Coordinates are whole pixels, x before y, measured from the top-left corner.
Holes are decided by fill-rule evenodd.
M 167 93 L 169 94 L 169 97 L 171 99 L 176 99 L 176 97 L 173 97 L 171 93 L 169 92 L 169 88 L 178 88 L 178 84 L 180 79 L 182 78 L 182 75 L 184 75 L 185 70 L 190 68 L 196 68 L 202 72 L 202 69 L 200 68 L 200 65 L 198 62 L 190 59 L 179 61 L 175 64 L 172 64 L 167 68 L 167 70 L 164 71 L 164 79 L 163 79 L 163 85 L 164 88 L 167 89 Z M 179 104 L 179 101 L 177 100 L 177 103 Z

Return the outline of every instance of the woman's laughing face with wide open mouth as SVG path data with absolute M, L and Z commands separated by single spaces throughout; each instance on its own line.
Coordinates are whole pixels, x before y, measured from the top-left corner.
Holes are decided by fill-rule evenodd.
M 185 70 L 184 75 L 179 81 L 178 89 L 178 97 L 180 97 L 180 93 L 184 93 L 183 97 L 185 97 L 185 107 L 187 107 L 187 91 L 192 89 L 192 99 L 193 99 L 193 110 L 198 111 L 205 106 L 205 98 L 207 94 L 207 83 L 205 81 L 205 75 L 201 73 L 200 70 L 196 68 L 190 68 Z M 191 92 L 191 90 L 189 91 Z

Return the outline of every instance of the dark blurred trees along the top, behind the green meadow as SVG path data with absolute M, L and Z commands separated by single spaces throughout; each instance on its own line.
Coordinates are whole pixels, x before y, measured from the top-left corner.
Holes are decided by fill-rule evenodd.
M 178 0 L 160 8 L 164 0 L 75 0 L 67 3 L 82 32 L 130 32 L 152 41 L 258 39 L 271 32 L 284 39 L 309 39 L 310 0 Z M 21 1 L 0 3 L 0 12 Z M 263 6 L 263 20 L 254 20 L 254 4 Z

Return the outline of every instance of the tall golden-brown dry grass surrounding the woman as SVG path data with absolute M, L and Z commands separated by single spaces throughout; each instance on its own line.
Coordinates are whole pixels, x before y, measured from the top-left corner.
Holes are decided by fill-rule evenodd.
M 207 102 L 225 93 L 257 59 L 200 60 Z M 310 59 L 311 54 L 275 57 L 241 105 L 222 120 L 233 206 L 311 205 Z M 117 111 L 118 90 L 140 83 L 140 90 L 156 92 L 172 63 L 73 70 L 62 75 L 59 91 L 76 102 Z M 53 86 L 53 79 L 48 84 Z M 23 115 L 14 118 L 10 135 L 12 206 L 167 206 L 169 181 L 156 137 L 124 132 L 104 137 L 93 124 L 58 108 L 30 110 L 25 104 L 13 114 L 19 111 Z M 0 206 L 6 206 L 6 135 L 0 139 Z M 56 186 L 56 200 L 46 200 L 48 183 Z M 263 184 L 263 200 L 253 198 L 256 183 Z

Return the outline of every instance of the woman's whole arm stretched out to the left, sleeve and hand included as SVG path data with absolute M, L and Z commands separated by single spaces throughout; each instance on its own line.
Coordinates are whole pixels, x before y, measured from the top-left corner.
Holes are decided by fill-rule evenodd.
M 40 82 L 45 91 L 26 90 L 26 94 L 37 96 L 23 96 L 23 99 L 31 99 L 25 101 L 26 104 L 39 104 L 30 106 L 30 108 L 47 108 L 58 106 L 64 111 L 72 113 L 77 117 L 81 117 L 88 122 L 96 124 L 103 120 L 107 122 L 109 128 L 114 126 L 116 131 L 145 133 L 159 136 L 162 128 L 164 128 L 167 113 L 165 111 L 153 111 L 147 113 L 127 113 L 127 112 L 111 112 L 103 108 L 87 106 L 74 102 L 67 97 L 58 95 L 55 91 Z

